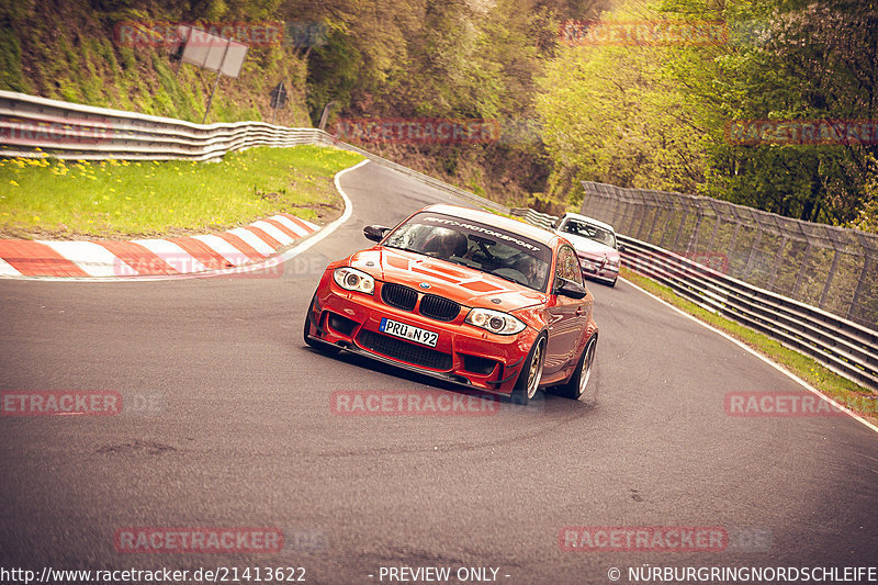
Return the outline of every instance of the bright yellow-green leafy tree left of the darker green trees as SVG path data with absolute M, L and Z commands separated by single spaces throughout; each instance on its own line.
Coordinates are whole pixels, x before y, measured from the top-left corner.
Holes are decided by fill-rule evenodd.
M 653 15 L 653 18 L 655 18 Z M 617 10 L 607 20 L 640 20 Z M 696 191 L 703 180 L 703 120 L 671 77 L 661 46 L 565 46 L 539 80 L 551 185 L 583 179 Z M 575 194 L 574 194 L 575 196 Z

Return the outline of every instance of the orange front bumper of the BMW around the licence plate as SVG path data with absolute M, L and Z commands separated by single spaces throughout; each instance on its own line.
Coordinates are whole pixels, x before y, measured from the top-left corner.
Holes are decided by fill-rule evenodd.
M 347 351 L 440 380 L 500 394 L 510 394 L 537 334 L 494 335 L 463 323 L 464 307 L 450 322 L 425 317 L 384 304 L 380 286 L 367 295 L 346 291 L 330 278 L 320 281 L 308 308 L 309 336 Z M 390 318 L 439 334 L 435 348 L 386 335 L 381 319 Z

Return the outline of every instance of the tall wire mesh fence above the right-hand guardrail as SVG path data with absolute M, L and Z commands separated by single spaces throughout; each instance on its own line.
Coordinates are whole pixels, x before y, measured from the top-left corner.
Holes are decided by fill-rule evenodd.
M 583 181 L 584 214 L 723 273 L 878 329 L 878 235 L 701 195 Z

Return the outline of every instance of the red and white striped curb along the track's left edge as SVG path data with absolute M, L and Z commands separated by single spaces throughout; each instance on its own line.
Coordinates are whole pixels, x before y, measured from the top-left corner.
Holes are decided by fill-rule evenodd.
M 131 241 L 0 239 L 0 277 L 169 277 L 260 262 L 319 226 L 281 213 L 203 236 Z

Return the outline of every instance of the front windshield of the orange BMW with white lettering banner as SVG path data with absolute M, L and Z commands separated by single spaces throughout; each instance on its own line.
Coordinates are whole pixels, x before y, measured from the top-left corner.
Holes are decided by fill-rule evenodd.
M 384 246 L 454 262 L 543 292 L 552 250 L 497 227 L 423 212 L 393 230 Z

